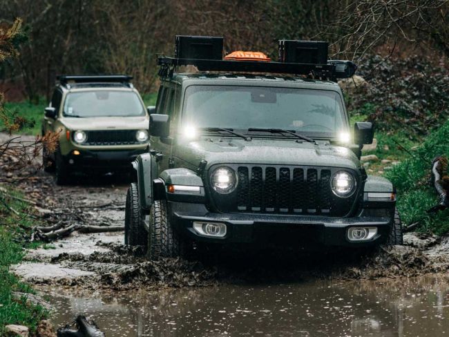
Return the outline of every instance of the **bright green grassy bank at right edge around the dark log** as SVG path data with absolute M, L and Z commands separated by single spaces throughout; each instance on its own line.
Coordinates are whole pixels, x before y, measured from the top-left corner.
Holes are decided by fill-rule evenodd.
M 437 204 L 438 195 L 430 184 L 432 160 L 438 155 L 449 156 L 449 122 L 446 122 L 415 151 L 413 157 L 385 173 L 398 189 L 398 209 L 406 225 L 418 222 L 421 231 L 437 234 L 449 231 L 449 211 L 428 215 L 426 211 Z

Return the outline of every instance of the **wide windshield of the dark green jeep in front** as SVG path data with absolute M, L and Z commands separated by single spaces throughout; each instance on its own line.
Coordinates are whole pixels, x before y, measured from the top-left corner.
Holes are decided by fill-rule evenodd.
M 189 86 L 184 99 L 182 124 L 195 128 L 280 128 L 330 137 L 347 131 L 341 97 L 332 90 Z

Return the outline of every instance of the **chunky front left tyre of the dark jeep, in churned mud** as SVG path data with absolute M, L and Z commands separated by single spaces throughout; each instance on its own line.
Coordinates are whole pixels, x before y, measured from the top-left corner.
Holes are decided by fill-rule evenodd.
M 184 256 L 182 243 L 178 234 L 173 231 L 166 201 L 155 200 L 150 211 L 147 257 L 149 260 L 159 260 Z

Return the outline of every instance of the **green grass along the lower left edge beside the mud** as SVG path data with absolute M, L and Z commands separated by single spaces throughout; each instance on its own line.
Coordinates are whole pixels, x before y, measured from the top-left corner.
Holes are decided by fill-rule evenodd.
M 21 238 L 26 228 L 35 224 L 31 215 L 30 205 L 12 198 L 8 194 L 19 195 L 17 191 L 1 190 L 0 193 L 0 336 L 5 333 L 4 327 L 8 324 L 26 325 L 30 331 L 35 331 L 39 320 L 46 317 L 47 312 L 38 305 L 27 302 L 26 296 L 17 298 L 14 292 L 32 293 L 32 289 L 20 282 L 9 272 L 11 264 L 21 262 L 23 258 L 23 247 Z M 4 192 L 6 191 L 6 192 Z M 19 212 L 16 215 L 6 207 Z

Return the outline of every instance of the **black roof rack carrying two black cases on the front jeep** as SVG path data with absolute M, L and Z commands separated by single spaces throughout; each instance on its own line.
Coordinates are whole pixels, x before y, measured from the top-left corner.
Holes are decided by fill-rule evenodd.
M 236 71 L 247 73 L 284 73 L 311 75 L 336 81 L 352 77 L 356 65 L 352 61 L 327 60 L 327 42 L 279 41 L 280 61 L 261 61 L 260 53 L 251 57 L 225 57 L 222 37 L 176 36 L 175 57 L 158 57 L 160 76 L 173 75 L 179 66 L 196 66 L 200 71 Z M 251 55 L 251 52 L 242 52 Z M 229 55 L 230 56 L 230 55 Z

